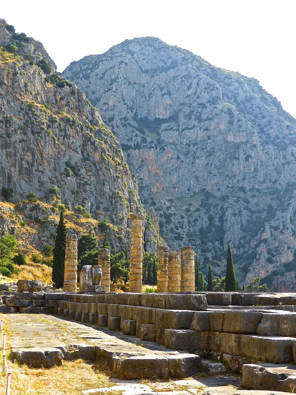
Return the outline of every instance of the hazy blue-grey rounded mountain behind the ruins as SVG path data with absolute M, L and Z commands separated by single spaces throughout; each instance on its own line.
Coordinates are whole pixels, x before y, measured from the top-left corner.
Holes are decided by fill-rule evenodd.
M 71 63 L 112 128 L 170 246 L 194 245 L 204 274 L 296 290 L 296 120 L 253 78 L 155 38 Z

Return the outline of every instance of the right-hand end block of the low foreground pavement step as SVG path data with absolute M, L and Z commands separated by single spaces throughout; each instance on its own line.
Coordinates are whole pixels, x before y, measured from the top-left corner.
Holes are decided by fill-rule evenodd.
M 202 372 L 199 356 L 194 354 L 167 355 L 170 377 L 190 377 Z

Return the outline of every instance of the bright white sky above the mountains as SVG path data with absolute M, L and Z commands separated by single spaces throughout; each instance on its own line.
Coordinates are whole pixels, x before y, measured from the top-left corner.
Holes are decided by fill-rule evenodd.
M 14 0 L 0 18 L 43 43 L 58 71 L 127 39 L 154 36 L 259 80 L 296 117 L 295 0 Z

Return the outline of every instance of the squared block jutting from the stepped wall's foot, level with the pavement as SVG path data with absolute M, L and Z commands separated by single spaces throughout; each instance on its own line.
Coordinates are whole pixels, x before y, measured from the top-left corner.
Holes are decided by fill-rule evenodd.
M 208 332 L 165 329 L 165 346 L 173 350 L 208 350 Z

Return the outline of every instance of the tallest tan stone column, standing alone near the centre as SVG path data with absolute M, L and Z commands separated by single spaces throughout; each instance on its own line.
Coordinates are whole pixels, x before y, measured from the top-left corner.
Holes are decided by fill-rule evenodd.
M 131 218 L 131 259 L 129 265 L 129 292 L 142 292 L 142 259 L 144 216 L 129 213 Z

